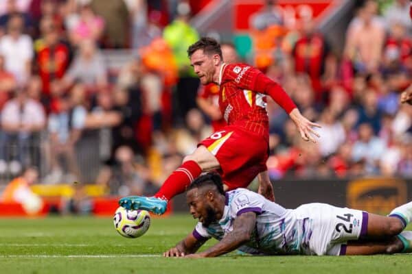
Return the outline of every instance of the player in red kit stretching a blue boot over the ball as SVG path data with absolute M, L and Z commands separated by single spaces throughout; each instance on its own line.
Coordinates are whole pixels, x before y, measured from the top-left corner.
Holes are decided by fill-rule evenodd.
M 253 178 L 264 173 L 268 158 L 266 95 L 289 114 L 301 138 L 316 142 L 314 136 L 319 137 L 312 127 L 320 125 L 302 116 L 279 84 L 247 64 L 225 64 L 220 45 L 213 38 L 201 38 L 187 53 L 201 84 L 219 85 L 219 107 L 227 126 L 185 156 L 183 164 L 165 180 L 155 197 L 120 199 L 119 205 L 126 209 L 163 214 L 168 201 L 206 171 L 218 171 L 229 190 L 248 186 Z

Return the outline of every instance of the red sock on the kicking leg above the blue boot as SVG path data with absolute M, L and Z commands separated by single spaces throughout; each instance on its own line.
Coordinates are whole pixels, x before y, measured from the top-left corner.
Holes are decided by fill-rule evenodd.
M 174 196 L 185 192 L 187 186 L 201 173 L 202 169 L 197 162 L 184 162 L 165 180 L 155 197 L 170 201 Z

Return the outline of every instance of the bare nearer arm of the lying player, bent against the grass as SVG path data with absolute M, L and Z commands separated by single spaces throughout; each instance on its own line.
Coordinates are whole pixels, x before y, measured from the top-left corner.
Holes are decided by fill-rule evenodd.
M 220 242 L 209 249 L 189 256 L 187 258 L 217 257 L 230 251 L 236 250 L 251 239 L 251 234 L 256 223 L 255 212 L 240 214 L 233 222 L 233 230 L 229 232 Z

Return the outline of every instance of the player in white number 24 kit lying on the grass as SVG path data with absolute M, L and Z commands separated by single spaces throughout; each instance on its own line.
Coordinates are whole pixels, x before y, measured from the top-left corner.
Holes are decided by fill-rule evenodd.
M 224 192 L 216 173 L 195 179 L 186 196 L 190 214 L 199 222 L 163 253 L 165 257 L 216 257 L 236 249 L 263 255 L 334 256 L 412 251 L 412 232 L 403 231 L 412 219 L 412 202 L 389 216 L 325 203 L 289 210 L 244 188 Z M 219 242 L 196 253 L 211 237 Z

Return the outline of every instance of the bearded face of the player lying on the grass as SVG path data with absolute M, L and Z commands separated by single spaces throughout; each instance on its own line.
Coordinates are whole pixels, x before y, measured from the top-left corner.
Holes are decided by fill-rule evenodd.
M 198 191 L 197 188 L 189 190 L 186 194 L 190 214 L 198 219 L 205 227 L 216 221 L 216 212 L 207 199 L 207 195 Z

